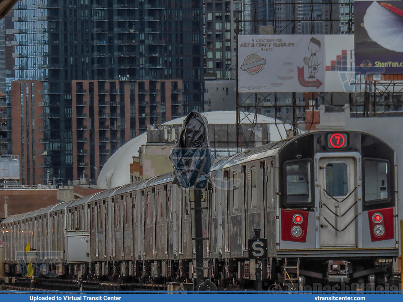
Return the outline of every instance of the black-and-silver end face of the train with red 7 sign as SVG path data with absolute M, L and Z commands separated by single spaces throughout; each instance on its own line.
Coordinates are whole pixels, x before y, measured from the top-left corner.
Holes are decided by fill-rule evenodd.
M 388 289 L 399 254 L 396 165 L 386 143 L 353 131 L 302 135 L 280 150 L 277 273 L 284 284 Z

